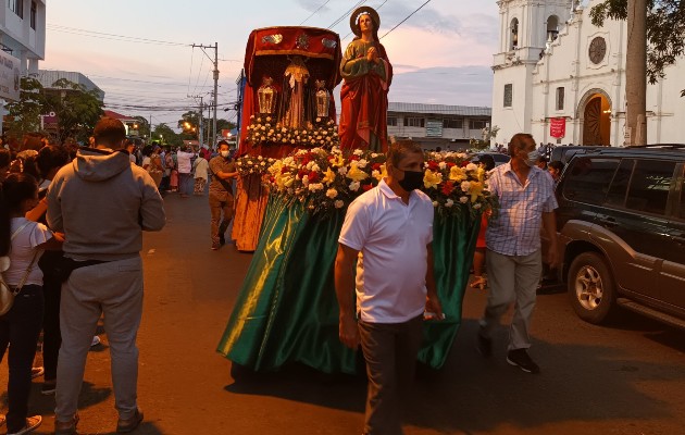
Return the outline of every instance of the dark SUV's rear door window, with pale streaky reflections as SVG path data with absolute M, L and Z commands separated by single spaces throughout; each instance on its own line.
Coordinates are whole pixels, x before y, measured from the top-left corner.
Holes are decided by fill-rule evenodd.
M 639 160 L 635 165 L 625 207 L 653 214 L 665 214 L 669 190 L 674 183 L 675 162 Z

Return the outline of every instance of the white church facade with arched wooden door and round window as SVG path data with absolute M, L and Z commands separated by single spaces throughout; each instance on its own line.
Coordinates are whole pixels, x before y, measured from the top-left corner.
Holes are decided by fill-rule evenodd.
M 525 132 L 538 142 L 623 146 L 627 25 L 593 25 L 601 0 L 500 0 L 494 55 L 497 141 Z M 582 4 L 586 3 L 586 4 Z M 685 60 L 647 85 L 647 144 L 685 142 Z M 561 138 L 550 127 L 565 126 Z M 559 136 L 559 134 L 556 134 Z

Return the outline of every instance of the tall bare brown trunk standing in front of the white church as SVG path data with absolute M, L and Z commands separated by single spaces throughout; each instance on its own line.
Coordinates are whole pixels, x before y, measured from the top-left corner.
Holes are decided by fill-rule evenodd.
M 625 145 L 647 144 L 647 0 L 628 0 Z

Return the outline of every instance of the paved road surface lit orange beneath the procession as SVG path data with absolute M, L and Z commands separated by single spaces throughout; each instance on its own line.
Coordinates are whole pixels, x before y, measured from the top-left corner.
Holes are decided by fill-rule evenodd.
M 153 434 L 359 434 L 363 378 L 306 368 L 231 377 L 214 349 L 251 256 L 211 251 L 207 198 L 166 199 L 169 224 L 145 238 L 146 299 L 139 334 L 139 402 Z M 507 333 L 484 360 L 474 350 L 485 293 L 470 290 L 464 324 L 440 372 L 421 370 L 407 413 L 408 435 L 685 433 L 685 333 L 626 313 L 610 327 L 577 320 L 565 295 L 538 298 L 532 355 L 540 375 L 505 361 Z M 82 434 L 116 423 L 107 335 L 90 352 Z M 0 366 L 0 390 L 7 363 Z M 7 395 L 2 397 L 5 410 Z M 53 428 L 52 397 L 34 385 L 32 410 Z

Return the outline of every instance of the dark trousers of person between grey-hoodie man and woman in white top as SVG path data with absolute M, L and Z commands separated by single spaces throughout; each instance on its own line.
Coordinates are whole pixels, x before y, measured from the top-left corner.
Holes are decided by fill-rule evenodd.
M 42 291 L 46 299 L 42 318 L 42 365 L 46 369 L 45 380 L 57 380 L 57 361 L 62 345 L 60 333 L 60 299 L 62 283 L 59 279 L 43 276 Z

